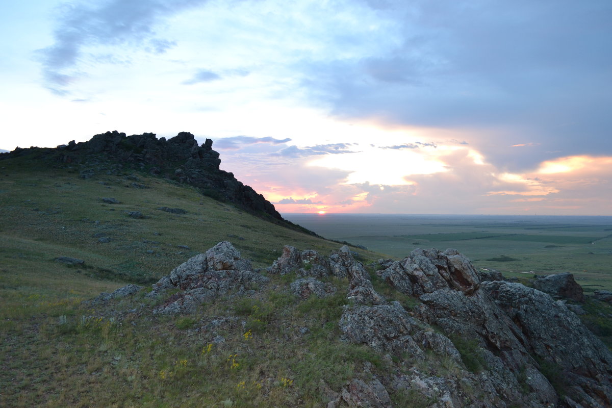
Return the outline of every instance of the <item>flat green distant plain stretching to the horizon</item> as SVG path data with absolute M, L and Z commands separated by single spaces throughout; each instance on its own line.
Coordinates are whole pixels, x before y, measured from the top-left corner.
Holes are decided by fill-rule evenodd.
M 612 217 L 283 214 L 317 234 L 404 258 L 455 248 L 505 276 L 571 272 L 585 292 L 612 290 Z

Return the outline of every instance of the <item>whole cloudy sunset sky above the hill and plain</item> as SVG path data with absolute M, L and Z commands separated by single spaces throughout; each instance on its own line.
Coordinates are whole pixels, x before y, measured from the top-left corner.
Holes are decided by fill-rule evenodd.
M 0 149 L 191 132 L 281 213 L 612 215 L 610 0 L 0 9 Z

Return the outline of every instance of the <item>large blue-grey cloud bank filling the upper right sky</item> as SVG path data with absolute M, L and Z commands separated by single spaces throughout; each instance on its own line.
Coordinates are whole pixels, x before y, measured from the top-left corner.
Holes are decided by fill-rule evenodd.
M 304 81 L 335 117 L 469 130 L 465 143 L 509 171 L 612 154 L 610 2 L 370 4 L 396 24 L 384 43 L 395 47 L 315 65 Z M 532 152 L 507 149 L 521 139 Z

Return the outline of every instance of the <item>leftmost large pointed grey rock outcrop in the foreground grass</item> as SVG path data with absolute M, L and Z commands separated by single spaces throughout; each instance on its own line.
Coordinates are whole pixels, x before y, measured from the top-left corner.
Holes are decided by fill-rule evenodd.
M 266 276 L 253 272 L 251 264 L 240 257 L 240 252 L 230 242 L 222 241 L 177 266 L 170 276 L 158 282 L 159 287 L 170 283 L 179 292 L 155 308 L 154 313 L 194 313 L 203 302 L 236 291 L 245 294 L 252 287 L 265 285 Z M 154 286 L 155 290 L 155 286 Z

